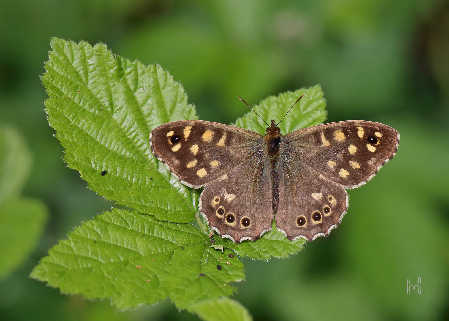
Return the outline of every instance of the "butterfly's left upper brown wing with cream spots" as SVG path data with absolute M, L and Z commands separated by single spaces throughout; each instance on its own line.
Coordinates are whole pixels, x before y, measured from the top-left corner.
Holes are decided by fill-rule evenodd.
M 154 155 L 181 183 L 200 188 L 257 152 L 262 136 L 204 120 L 180 120 L 151 131 Z

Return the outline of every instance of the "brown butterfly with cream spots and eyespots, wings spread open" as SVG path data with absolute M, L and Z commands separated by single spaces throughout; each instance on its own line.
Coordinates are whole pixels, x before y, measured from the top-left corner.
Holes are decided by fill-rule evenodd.
M 348 210 L 346 189 L 373 178 L 399 145 L 396 129 L 373 121 L 286 135 L 277 125 L 272 120 L 262 136 L 210 121 L 173 121 L 151 131 L 150 146 L 181 183 L 204 187 L 199 209 L 209 227 L 240 243 L 271 230 L 273 218 L 290 241 L 329 235 Z

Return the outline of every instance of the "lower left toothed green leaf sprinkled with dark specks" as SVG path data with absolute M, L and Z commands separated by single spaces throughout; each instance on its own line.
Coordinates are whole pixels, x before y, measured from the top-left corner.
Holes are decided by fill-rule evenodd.
M 31 277 L 87 299 L 112 297 L 119 309 L 167 296 L 182 309 L 233 294 L 229 282 L 245 277 L 242 262 L 229 258 L 229 250 L 221 254 L 208 244 L 208 237 L 191 224 L 113 209 L 53 246 Z

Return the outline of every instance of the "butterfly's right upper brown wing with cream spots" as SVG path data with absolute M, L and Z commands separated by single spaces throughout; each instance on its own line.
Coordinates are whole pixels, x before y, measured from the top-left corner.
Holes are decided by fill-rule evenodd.
M 396 155 L 396 129 L 364 120 L 317 125 L 287 134 L 281 146 L 345 188 L 368 182 Z

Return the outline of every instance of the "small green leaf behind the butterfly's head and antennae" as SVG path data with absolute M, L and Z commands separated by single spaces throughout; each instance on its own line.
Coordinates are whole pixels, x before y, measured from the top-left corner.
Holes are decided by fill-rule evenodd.
M 320 85 L 301 88 L 293 93 L 287 91 L 277 96 L 269 96 L 253 108 L 267 124 L 271 125 L 272 119 L 279 122 L 303 94 L 305 96 L 278 125 L 281 133 L 285 135 L 298 129 L 321 124 L 326 120 L 327 111 L 325 109 L 326 99 L 323 98 L 324 94 Z M 233 125 L 262 135 L 266 133 L 265 129 L 267 128 L 267 125 L 253 111 L 248 111 L 243 117 L 238 118 Z

